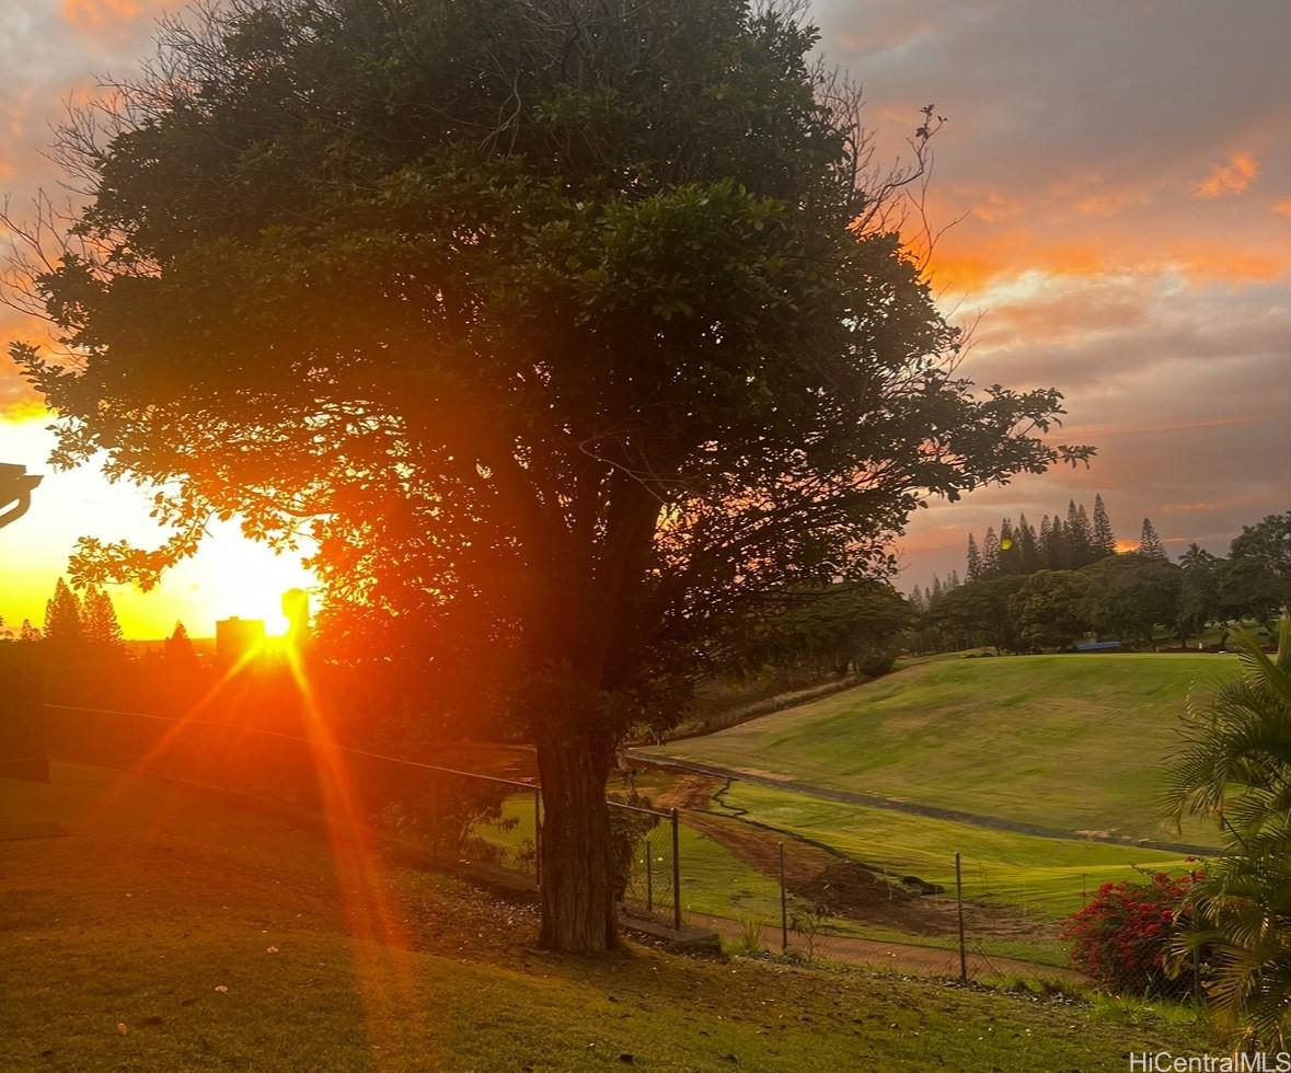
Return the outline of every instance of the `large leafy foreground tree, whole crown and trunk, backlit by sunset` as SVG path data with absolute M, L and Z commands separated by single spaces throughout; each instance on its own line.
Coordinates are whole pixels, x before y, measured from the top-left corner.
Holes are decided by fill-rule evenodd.
M 799 6 L 229 0 L 62 139 L 89 203 L 36 296 L 74 358 L 15 356 L 56 461 L 105 452 L 174 529 L 77 571 L 307 528 L 333 621 L 505 653 L 549 946 L 615 943 L 605 775 L 697 618 L 1087 453 L 1056 391 L 955 373 L 895 232 L 919 165 L 869 169 Z

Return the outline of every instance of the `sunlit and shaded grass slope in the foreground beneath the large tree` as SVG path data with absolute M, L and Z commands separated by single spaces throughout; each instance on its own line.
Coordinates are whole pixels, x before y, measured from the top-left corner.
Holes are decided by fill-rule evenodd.
M 1122 1069 L 1193 1027 L 631 948 L 553 957 L 531 909 L 249 807 L 58 766 L 0 782 L 15 1069 Z M 630 1059 L 629 1059 L 630 1056 Z

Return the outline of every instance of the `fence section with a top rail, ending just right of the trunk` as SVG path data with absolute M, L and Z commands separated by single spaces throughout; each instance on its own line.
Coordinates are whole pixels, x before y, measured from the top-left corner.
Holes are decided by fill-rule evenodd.
M 243 723 L 45 704 L 59 758 L 89 761 L 323 813 L 338 790 L 382 834 L 454 865 L 542 881 L 542 786 Z M 343 759 L 320 770 L 319 759 Z M 324 764 L 324 768 L 328 764 Z M 329 785 L 330 784 L 330 785 Z M 616 843 L 629 855 L 624 908 L 682 927 L 676 810 L 609 797 Z M 662 829 L 662 832 L 660 832 Z

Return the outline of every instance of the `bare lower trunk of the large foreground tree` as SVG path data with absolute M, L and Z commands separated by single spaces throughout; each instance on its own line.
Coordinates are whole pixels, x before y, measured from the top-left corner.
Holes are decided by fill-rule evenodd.
M 547 950 L 618 945 L 609 807 L 611 750 L 584 736 L 538 742 L 542 779 L 542 932 Z

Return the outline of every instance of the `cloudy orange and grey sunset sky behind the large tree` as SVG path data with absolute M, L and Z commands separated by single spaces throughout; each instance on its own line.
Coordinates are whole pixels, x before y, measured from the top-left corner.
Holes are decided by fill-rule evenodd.
M 152 0 L 0 0 L 0 192 L 57 192 L 49 125 L 96 76 L 146 54 Z M 1285 0 L 816 0 L 821 48 L 865 87 L 880 156 L 918 108 L 935 139 L 931 272 L 979 383 L 1056 386 L 1086 470 L 935 501 L 900 541 L 901 584 L 963 571 L 966 535 L 1003 515 L 1106 501 L 1118 536 L 1150 516 L 1171 553 L 1216 551 L 1291 510 L 1291 4 Z M 3 240 L 3 236 L 0 236 Z M 41 325 L 0 309 L 0 341 Z M 50 474 L 45 417 L 0 356 L 0 461 L 46 473 L 0 531 L 0 616 L 37 622 L 76 536 L 159 535 L 141 495 Z M 298 564 L 235 527 L 161 589 L 114 590 L 127 633 L 196 635 L 226 615 L 280 628 Z

